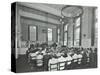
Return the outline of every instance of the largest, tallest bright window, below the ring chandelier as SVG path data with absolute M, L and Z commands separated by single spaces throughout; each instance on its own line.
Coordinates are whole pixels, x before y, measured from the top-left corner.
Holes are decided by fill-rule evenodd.
M 78 17 L 75 21 L 74 27 L 74 46 L 79 46 L 80 40 L 80 17 Z

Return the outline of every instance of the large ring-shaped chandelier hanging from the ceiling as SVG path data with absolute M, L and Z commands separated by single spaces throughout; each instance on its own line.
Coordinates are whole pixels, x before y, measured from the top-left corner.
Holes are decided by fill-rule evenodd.
M 61 9 L 62 18 L 75 18 L 83 14 L 83 8 L 81 6 L 67 5 Z

